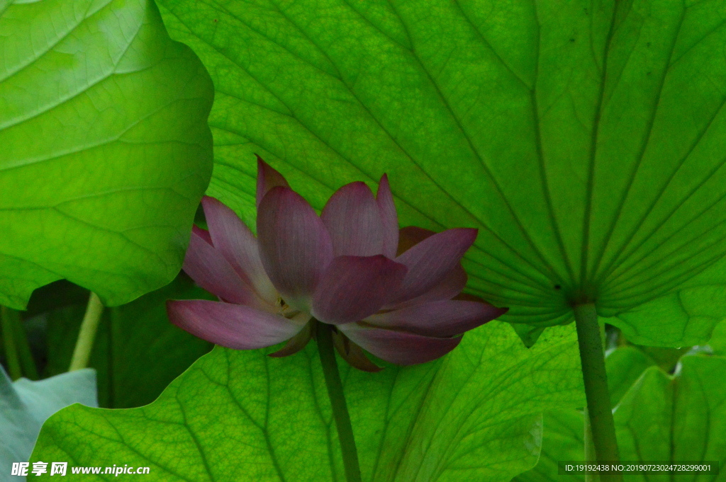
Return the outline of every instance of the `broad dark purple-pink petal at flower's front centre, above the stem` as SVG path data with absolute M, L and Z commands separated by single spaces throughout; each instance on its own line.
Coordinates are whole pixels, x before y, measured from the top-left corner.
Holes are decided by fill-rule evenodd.
M 404 265 L 383 254 L 335 257 L 315 289 L 312 315 L 334 325 L 362 320 L 398 291 L 405 275 Z

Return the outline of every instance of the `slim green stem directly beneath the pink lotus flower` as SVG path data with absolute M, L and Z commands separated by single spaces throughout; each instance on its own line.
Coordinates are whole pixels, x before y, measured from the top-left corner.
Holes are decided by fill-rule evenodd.
M 332 327 L 318 322 L 316 333 L 320 362 L 322 363 L 322 371 L 325 374 L 327 395 L 330 397 L 330 404 L 333 405 L 335 427 L 338 428 L 338 440 L 340 441 L 340 452 L 343 453 L 346 480 L 348 482 L 361 482 L 361 469 L 358 463 L 358 451 L 353 436 L 353 426 L 351 425 L 351 417 L 348 415 L 346 396 L 343 394 L 343 383 L 340 381 L 338 363 L 335 362 Z

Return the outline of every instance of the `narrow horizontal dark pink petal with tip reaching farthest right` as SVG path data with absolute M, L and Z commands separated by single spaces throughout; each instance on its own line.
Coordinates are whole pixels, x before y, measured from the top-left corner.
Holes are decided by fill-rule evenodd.
M 396 328 L 425 336 L 454 336 L 504 315 L 507 308 L 488 303 L 444 300 L 372 315 L 365 319 L 381 328 Z

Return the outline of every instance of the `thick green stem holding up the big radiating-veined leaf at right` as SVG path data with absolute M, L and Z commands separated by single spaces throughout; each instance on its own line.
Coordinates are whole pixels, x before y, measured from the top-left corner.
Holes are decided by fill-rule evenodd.
M 592 444 L 595 446 L 597 462 L 617 462 L 620 459 L 618 441 L 615 437 L 615 422 L 610 408 L 603 338 L 600 337 L 595 304 L 576 305 L 574 312 L 580 361 L 582 362 L 582 379 L 587 397 L 587 416 L 590 417 Z M 600 480 L 602 482 L 619 482 L 622 480 L 622 475 L 601 473 Z

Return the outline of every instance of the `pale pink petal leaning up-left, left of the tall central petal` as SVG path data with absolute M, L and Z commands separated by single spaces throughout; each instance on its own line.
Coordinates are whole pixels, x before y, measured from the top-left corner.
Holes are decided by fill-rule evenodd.
M 265 273 L 258 251 L 257 238 L 239 217 L 210 196 L 202 199 L 204 215 L 214 247 L 221 252 L 242 280 L 248 281 L 261 299 L 277 303 L 277 290 Z

